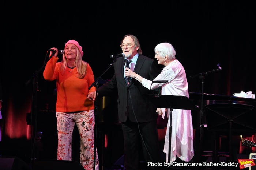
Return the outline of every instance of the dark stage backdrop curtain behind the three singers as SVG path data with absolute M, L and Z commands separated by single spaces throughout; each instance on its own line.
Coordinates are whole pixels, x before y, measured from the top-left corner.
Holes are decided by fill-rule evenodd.
M 91 65 L 95 78 L 113 62 L 110 55 L 121 53 L 123 36 L 133 34 L 150 58 L 158 43 L 174 46 L 187 73 L 189 92 L 202 90 L 199 76 L 189 76 L 211 71 L 219 63 L 221 71 L 206 75 L 204 93 L 256 93 L 256 16 L 255 5 L 249 1 L 3 0 L 0 9 L 1 143 L 17 155 L 24 153 L 31 137 L 26 114 L 35 105 L 34 80 L 39 95 L 51 96 L 56 87 L 42 77 L 46 51 L 52 47 L 61 50 L 71 39 L 83 47 L 83 60 Z M 111 67 L 101 79 L 112 75 Z M 18 139 L 23 140 L 16 142 Z

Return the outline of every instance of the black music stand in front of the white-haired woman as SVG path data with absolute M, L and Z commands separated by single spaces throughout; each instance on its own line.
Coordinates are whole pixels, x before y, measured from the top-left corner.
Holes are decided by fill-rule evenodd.
M 144 94 L 155 104 L 158 108 L 170 108 L 170 120 L 172 120 L 172 110 L 183 109 L 183 110 L 198 110 L 199 108 L 185 96 L 174 96 L 174 95 L 153 95 L 153 94 Z M 170 149 L 171 149 L 171 137 L 172 137 L 172 123 L 169 127 L 169 148 L 168 148 L 168 163 L 170 163 Z

